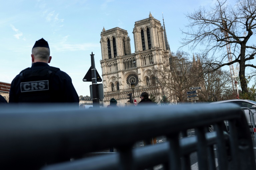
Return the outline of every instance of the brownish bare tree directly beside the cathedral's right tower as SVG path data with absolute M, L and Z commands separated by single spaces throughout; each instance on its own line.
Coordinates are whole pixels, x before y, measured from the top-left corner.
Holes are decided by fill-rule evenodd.
M 170 67 L 153 70 L 156 82 L 164 92 L 162 96 L 166 96 L 169 101 L 186 102 L 189 87 L 197 86 L 201 80 L 197 74 L 199 67 L 195 61 L 189 61 L 188 53 L 183 51 L 172 52 L 168 57 Z

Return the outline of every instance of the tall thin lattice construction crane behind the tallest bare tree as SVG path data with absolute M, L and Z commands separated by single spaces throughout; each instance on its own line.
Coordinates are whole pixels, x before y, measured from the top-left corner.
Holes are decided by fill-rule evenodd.
M 224 30 L 227 30 L 227 22 L 225 20 L 222 20 L 222 26 L 224 28 Z M 224 30 L 221 30 L 221 32 L 223 33 L 224 32 L 224 35 L 226 37 L 226 47 L 227 47 L 227 52 L 228 52 L 228 62 L 232 62 L 232 53 L 231 53 L 231 50 L 230 50 L 230 44 L 229 44 L 229 38 L 228 38 L 228 32 L 227 31 L 224 31 Z M 232 87 L 233 87 L 233 91 L 236 95 L 236 98 L 239 99 L 239 93 L 238 93 L 238 86 L 237 86 L 237 76 L 238 76 L 238 72 L 237 72 L 237 69 L 239 70 L 239 64 L 237 64 L 236 66 L 236 70 L 234 69 L 234 66 L 233 64 L 230 64 L 229 65 L 229 68 L 230 68 L 230 75 L 231 75 L 231 80 L 232 80 Z

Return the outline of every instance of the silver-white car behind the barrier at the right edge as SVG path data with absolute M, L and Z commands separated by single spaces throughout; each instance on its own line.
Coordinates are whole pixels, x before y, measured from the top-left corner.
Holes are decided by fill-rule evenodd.
M 239 105 L 240 107 L 246 107 L 246 108 L 254 108 L 251 109 L 253 113 L 256 112 L 256 102 L 253 100 L 244 100 L 244 99 L 231 99 L 231 100 L 223 100 L 223 101 L 218 101 L 218 102 L 212 102 L 210 104 L 220 104 L 220 103 L 235 103 Z M 248 125 L 251 126 L 251 120 L 250 120 L 250 115 L 249 115 L 249 110 L 244 110 L 246 120 L 248 122 Z M 254 115 L 254 122 L 256 123 L 256 114 Z M 226 126 L 228 126 L 228 122 L 225 123 Z M 256 124 L 255 124 L 256 125 Z M 213 125 L 209 126 L 209 131 L 214 131 Z

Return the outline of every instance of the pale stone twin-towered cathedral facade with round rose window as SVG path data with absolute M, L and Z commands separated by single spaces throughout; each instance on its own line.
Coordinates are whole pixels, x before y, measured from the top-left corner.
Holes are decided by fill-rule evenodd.
M 164 23 L 163 23 L 164 25 Z M 149 18 L 136 21 L 133 28 L 135 52 L 131 53 L 128 32 L 121 28 L 101 32 L 102 79 L 104 106 L 111 98 L 117 100 L 117 106 L 130 105 L 127 94 L 132 93 L 130 83 L 135 82 L 134 99 L 140 101 L 140 94 L 153 94 L 156 100 L 162 89 L 157 85 L 153 68 L 169 65 L 170 47 L 165 27 L 151 13 Z

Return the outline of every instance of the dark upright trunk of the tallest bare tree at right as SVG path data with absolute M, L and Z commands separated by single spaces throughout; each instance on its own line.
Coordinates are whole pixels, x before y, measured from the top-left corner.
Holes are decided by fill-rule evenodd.
M 245 78 L 245 44 L 241 44 L 240 54 L 241 55 L 240 55 L 240 63 L 239 63 L 239 66 L 240 66 L 239 79 L 240 79 L 242 94 L 244 94 L 244 93 L 248 93 L 247 82 Z

